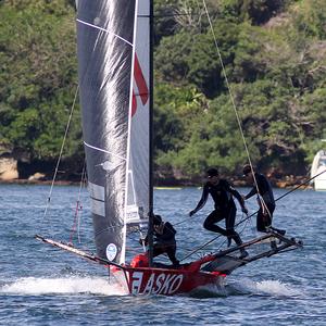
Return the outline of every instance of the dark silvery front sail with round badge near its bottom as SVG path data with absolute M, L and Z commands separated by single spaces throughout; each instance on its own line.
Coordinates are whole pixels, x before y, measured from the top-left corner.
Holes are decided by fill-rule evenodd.
M 97 253 L 124 261 L 133 0 L 78 0 L 83 135 Z

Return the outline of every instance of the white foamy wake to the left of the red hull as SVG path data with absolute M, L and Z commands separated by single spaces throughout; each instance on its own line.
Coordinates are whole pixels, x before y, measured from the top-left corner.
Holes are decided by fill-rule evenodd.
M 125 296 L 116 284 L 109 284 L 108 278 L 70 276 L 62 278 L 24 277 L 0 285 L 3 294 L 103 294 Z

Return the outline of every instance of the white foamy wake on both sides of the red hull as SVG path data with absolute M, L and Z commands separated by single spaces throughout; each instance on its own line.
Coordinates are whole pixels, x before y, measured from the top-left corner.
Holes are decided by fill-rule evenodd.
M 118 284 L 109 284 L 103 277 L 59 277 L 36 278 L 24 277 L 11 283 L 0 284 L 2 294 L 100 294 L 100 296 L 128 296 Z M 273 296 L 299 297 L 302 293 L 279 280 L 252 281 L 239 279 L 224 286 L 208 285 L 189 293 L 192 298 L 212 298 L 229 296 Z

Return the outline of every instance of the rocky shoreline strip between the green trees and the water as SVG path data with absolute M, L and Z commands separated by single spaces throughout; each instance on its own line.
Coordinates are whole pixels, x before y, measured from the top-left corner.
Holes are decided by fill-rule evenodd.
M 51 185 L 57 161 L 30 161 L 26 153 L 12 151 L 0 143 L 0 184 L 16 185 Z M 292 188 L 302 185 L 302 188 L 311 188 L 308 175 L 286 175 L 286 172 L 271 168 L 264 174 L 271 180 L 273 187 Z M 224 175 L 236 187 L 248 186 L 243 177 L 238 175 Z M 78 162 L 63 161 L 57 174 L 55 185 L 79 185 L 82 178 L 82 167 Z M 203 176 L 185 176 L 177 170 L 164 170 L 155 166 L 155 187 L 200 187 L 205 181 Z

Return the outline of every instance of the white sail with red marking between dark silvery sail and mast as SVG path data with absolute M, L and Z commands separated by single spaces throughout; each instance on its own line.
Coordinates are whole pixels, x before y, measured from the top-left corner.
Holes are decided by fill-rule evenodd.
M 133 103 L 130 112 L 126 223 L 146 225 L 150 170 L 150 1 L 138 1 L 135 30 Z

